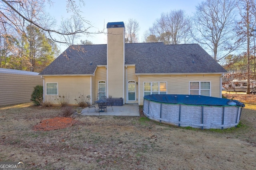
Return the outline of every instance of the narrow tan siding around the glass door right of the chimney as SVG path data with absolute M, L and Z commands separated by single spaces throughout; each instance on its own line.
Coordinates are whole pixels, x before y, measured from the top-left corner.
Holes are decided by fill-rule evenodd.
M 139 93 L 138 93 L 138 85 L 136 84 L 136 82 L 138 82 L 138 76 L 136 76 L 135 75 L 135 66 L 127 66 L 127 71 L 125 72 L 125 74 L 127 73 L 127 75 L 125 76 L 125 78 L 127 77 L 127 79 L 125 79 L 125 84 L 126 84 L 126 86 L 125 86 L 125 103 L 138 103 L 138 100 L 136 100 L 136 99 L 138 99 L 138 95 L 139 95 Z M 127 95 L 128 95 L 128 90 L 127 90 L 127 83 L 128 83 L 128 81 L 131 81 L 131 80 L 133 80 L 133 81 L 135 81 L 135 86 L 136 86 L 136 96 L 135 96 L 135 100 L 136 101 L 128 101 L 128 98 L 127 98 Z

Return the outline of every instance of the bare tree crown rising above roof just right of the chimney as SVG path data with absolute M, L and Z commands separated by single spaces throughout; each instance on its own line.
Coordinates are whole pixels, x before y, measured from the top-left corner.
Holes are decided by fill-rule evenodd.
M 183 10 L 162 13 L 149 29 L 147 42 L 156 41 L 164 44 L 187 43 L 190 39 L 190 19 Z

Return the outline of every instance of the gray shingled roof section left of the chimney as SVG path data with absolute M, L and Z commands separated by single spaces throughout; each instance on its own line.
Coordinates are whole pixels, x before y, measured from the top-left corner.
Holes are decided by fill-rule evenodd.
M 97 65 L 107 64 L 107 45 L 73 45 L 39 75 L 93 74 Z

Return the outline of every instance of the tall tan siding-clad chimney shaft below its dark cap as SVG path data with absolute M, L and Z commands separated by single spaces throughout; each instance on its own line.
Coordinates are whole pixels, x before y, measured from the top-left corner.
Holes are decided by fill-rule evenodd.
M 124 98 L 124 28 L 108 29 L 108 92 L 112 98 Z

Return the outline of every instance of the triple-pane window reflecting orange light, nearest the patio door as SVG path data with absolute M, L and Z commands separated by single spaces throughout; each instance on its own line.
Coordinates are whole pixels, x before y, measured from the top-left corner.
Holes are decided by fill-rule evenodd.
M 144 96 L 150 94 L 167 94 L 166 82 L 144 82 Z

